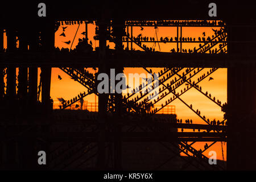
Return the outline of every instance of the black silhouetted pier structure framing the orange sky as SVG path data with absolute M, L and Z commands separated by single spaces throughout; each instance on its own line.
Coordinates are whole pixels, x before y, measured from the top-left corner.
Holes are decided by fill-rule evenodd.
M 147 5 L 137 3 L 136 6 L 131 3 L 128 3 L 127 6 L 122 6 L 121 2 L 102 3 L 100 5 L 94 4 L 94 2 L 73 2 L 73 4 L 68 3 L 65 5 L 63 3 L 49 3 L 47 4 L 46 18 L 36 16 L 36 2 L 29 3 L 26 7 L 23 4 L 15 7 L 9 5 L 1 11 L 3 23 L 0 25 L 0 71 L 6 71 L 7 74 L 6 94 L 3 84 L 4 75 L 0 76 L 2 113 L 0 123 L 2 142 L 0 151 L 2 158 L 0 161 L 2 169 L 65 169 L 76 159 L 83 156 L 82 152 L 86 153 L 88 151 L 93 154 L 82 160 L 85 162 L 93 159 L 91 164 L 93 169 L 122 169 L 122 158 L 124 158 L 122 156 L 123 142 L 159 142 L 163 145 L 164 142 L 176 142 L 178 145 L 173 146 L 176 148 L 174 152 L 188 154 L 187 151 L 189 151 L 192 154 L 188 155 L 189 160 L 186 163 L 199 169 L 224 169 L 218 165 L 209 166 L 207 156 L 202 155 L 201 151 L 195 150 L 187 142 L 212 141 L 214 144 L 214 142 L 226 140 L 228 140 L 227 168 L 255 169 L 256 158 L 253 154 L 256 151 L 254 144 L 256 139 L 256 17 L 253 14 L 254 10 L 250 7 L 251 11 L 248 10 L 246 14 L 237 15 L 235 12 L 245 7 L 234 5 L 233 3 L 232 5 L 224 5 L 218 2 L 218 16 L 217 18 L 210 18 L 208 16 L 207 3 L 185 1 L 182 5 L 181 3 L 170 3 L 168 6 L 162 2 L 159 3 L 162 5 L 159 10 L 155 10 L 155 7 L 152 7 L 155 4 L 153 1 L 149 1 Z M 23 11 L 22 7 L 27 11 Z M 88 7 L 88 10 L 84 11 L 85 7 Z M 130 11 L 131 7 L 134 7 L 133 12 Z M 171 7 L 175 8 L 169 11 Z M 227 8 L 234 11 L 230 13 L 226 11 Z M 10 11 L 11 9 L 12 11 Z M 56 51 L 54 36 L 55 31 L 60 26 L 60 21 L 69 24 L 73 21 L 85 23 L 85 20 L 88 21 L 87 23 L 92 20 L 97 21 L 97 39 L 100 42 L 100 46 L 96 51 L 90 54 Z M 147 40 L 134 40 L 131 36 L 123 41 L 123 37 L 127 37 L 125 34 L 127 26 L 137 26 L 140 21 L 145 23 L 145 21 L 150 20 L 160 22 L 154 26 L 170 26 L 168 23 L 161 24 L 163 20 L 180 22 L 184 20 L 208 20 L 212 22 L 222 20 L 225 24 L 220 26 L 225 26 L 225 33 L 228 36 L 224 36 L 220 42 L 226 43 L 225 46 L 228 47 L 228 52 L 224 51 L 218 54 L 205 54 L 205 52 L 183 53 L 179 51 L 175 53 L 154 52 L 142 46 L 141 43 L 143 41 L 148 42 Z M 139 26 L 141 25 L 151 26 L 150 23 L 139 24 Z M 106 47 L 108 26 L 113 28 L 114 50 Z M 178 29 L 180 27 L 181 30 L 183 26 L 214 27 L 214 23 L 209 25 L 205 23 L 196 25 L 181 23 L 180 25 L 174 24 L 174 26 L 177 26 Z M 3 52 L 3 30 L 6 30 L 7 34 L 6 52 Z M 16 36 L 19 38 L 18 49 L 16 48 Z M 177 38 L 179 38 L 179 35 L 177 35 Z M 177 43 L 177 48 L 180 46 L 180 51 L 182 42 L 199 43 L 193 40 L 183 41 L 182 39 L 181 41 L 176 40 L 176 42 L 168 41 Z M 133 51 L 131 47 L 130 50 L 123 50 L 123 42 L 130 45 L 133 42 L 133 44 L 144 48 L 145 51 Z M 211 42 L 205 42 L 204 44 Z M 204 51 L 207 51 L 207 49 Z M 40 75 L 42 83 L 41 103 L 38 102 L 38 67 L 42 71 Z M 69 76 L 75 78 L 76 81 L 79 81 L 80 84 L 89 89 L 89 93 L 85 93 L 81 97 L 85 97 L 86 94 L 90 93 L 98 95 L 97 115 L 87 113 L 84 119 L 67 114 L 71 117 L 69 121 L 67 115 L 61 116 L 61 114 L 58 115 L 58 113 L 52 111 L 52 101 L 49 94 L 52 67 L 66 70 Z M 221 126 L 221 124 L 211 125 L 207 119 L 201 117 L 192 107 L 191 109 L 207 125 L 177 123 L 175 115 L 172 115 L 171 119 L 169 121 L 167 119 L 166 122 L 158 122 L 158 120 L 161 121 L 159 117 L 152 121 L 152 117 L 157 115 L 155 113 L 158 110 L 147 113 L 146 109 L 144 109 L 148 107 L 147 101 L 145 101 L 145 105 L 139 107 L 125 100 L 121 94 L 113 94 L 112 96 L 98 94 L 96 76 L 90 77 L 80 69 L 83 67 L 97 67 L 99 68 L 98 73 L 107 73 L 110 68 L 115 68 L 116 72 L 122 72 L 123 67 L 143 67 L 145 69 L 159 67 L 165 68 L 164 72 L 170 71 L 171 76 L 179 74 L 178 71 L 183 68 L 212 68 L 207 76 L 216 71 L 217 68 L 228 68 L 228 105 L 225 106 L 201 92 L 197 88 L 197 83 L 189 83 L 188 79 L 180 76 L 180 80 L 187 82 L 189 85 L 188 89 L 196 88 L 222 108 L 226 114 L 224 121 L 226 119 L 229 121 L 228 129 L 227 126 Z M 15 68 L 19 68 L 17 93 Z M 189 72 L 192 71 L 188 70 Z M 199 69 L 194 75 L 198 72 Z M 199 82 L 204 78 L 205 76 Z M 165 87 L 167 88 L 167 86 Z M 167 90 L 170 93 L 174 92 L 172 89 L 167 88 Z M 173 99 L 180 99 L 178 94 L 175 93 L 174 95 Z M 78 100 L 73 100 L 72 104 Z M 189 105 L 187 106 L 189 107 Z M 127 109 L 129 110 L 130 108 L 133 108 L 136 112 L 127 113 Z M 112 114 L 110 115 L 109 113 Z M 62 126 L 59 126 L 59 121 L 62 122 Z M 77 125 L 72 122 L 77 122 Z M 138 127 L 141 130 L 134 131 Z M 178 128 L 214 130 L 216 132 L 177 132 Z M 123 131 L 124 129 L 127 129 L 126 132 Z M 58 147 L 53 146 L 55 147 L 54 150 L 51 148 L 51 143 L 53 142 L 59 142 Z M 107 146 L 111 146 L 109 147 L 111 150 L 107 151 Z M 250 148 L 251 155 L 249 155 L 247 148 Z M 47 154 L 50 154 L 50 159 L 47 158 L 49 166 L 44 167 L 37 164 L 38 156 L 36 151 L 39 150 L 44 150 Z M 81 154 L 78 154 L 78 152 L 81 152 Z M 61 157 L 59 158 L 59 156 Z M 71 156 L 75 159 L 71 159 Z M 93 158 L 94 156 L 96 156 L 96 160 Z M 108 159 L 107 156 L 112 156 L 112 158 Z M 55 159 L 57 160 L 56 163 Z M 107 165 L 107 159 L 112 161 L 109 164 L 110 166 Z M 192 159 L 200 166 L 196 166 Z M 65 163 L 65 160 L 68 162 Z M 56 167 L 56 165 L 61 167 Z M 73 168 L 81 169 L 79 166 L 74 166 Z

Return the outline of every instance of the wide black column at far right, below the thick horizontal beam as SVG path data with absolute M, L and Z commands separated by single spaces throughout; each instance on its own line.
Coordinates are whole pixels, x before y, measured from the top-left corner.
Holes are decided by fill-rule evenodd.
M 242 63 L 228 68 L 228 148 L 229 170 L 255 170 L 256 157 L 256 67 Z

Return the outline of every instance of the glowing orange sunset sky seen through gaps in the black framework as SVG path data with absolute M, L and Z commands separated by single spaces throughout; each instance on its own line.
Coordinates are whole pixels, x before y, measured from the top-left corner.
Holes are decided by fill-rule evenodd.
M 68 40 L 73 40 L 78 24 L 68 26 L 65 30 L 65 37 L 60 36 L 62 31 L 62 26 L 59 27 L 59 30 L 56 31 L 55 34 L 55 46 L 59 48 L 70 48 L 71 44 L 67 45 L 64 42 Z M 65 25 L 64 25 L 65 27 Z M 89 41 L 92 40 L 93 48 L 98 47 L 98 41 L 93 39 L 95 35 L 95 24 L 88 24 L 88 38 Z M 219 29 L 219 28 L 214 28 Z M 79 38 L 83 38 L 84 35 L 81 32 L 85 31 L 85 24 L 80 24 L 79 30 L 77 31 L 76 38 L 74 40 L 72 49 L 76 47 L 77 43 L 79 42 Z M 158 27 L 158 30 L 155 30 L 154 27 L 144 27 L 144 30 L 141 31 L 141 27 L 134 27 L 133 28 L 133 36 L 137 36 L 138 34 L 142 34 L 142 36 L 154 37 L 155 38 L 155 31 L 157 31 L 158 39 L 162 36 L 165 38 L 166 36 L 170 39 L 171 37 L 174 38 L 177 35 L 177 28 L 176 27 Z M 206 38 L 208 36 L 212 37 L 214 32 L 212 31 L 212 27 L 183 27 L 182 28 L 182 36 L 183 37 L 192 37 L 198 39 L 198 37 L 203 36 L 203 32 L 206 34 Z M 129 29 L 130 32 L 130 29 Z M 180 35 L 180 33 L 179 33 Z M 156 39 L 156 38 L 155 38 Z M 5 40 L 6 44 L 6 40 Z M 110 48 L 114 48 L 114 43 L 107 43 L 109 44 Z M 123 43 L 126 47 L 127 43 Z M 154 43 L 146 44 L 147 47 L 153 47 Z M 172 48 L 176 49 L 176 43 L 159 43 L 160 51 L 162 52 L 170 52 Z M 182 48 L 190 48 L 199 47 L 199 43 L 183 43 Z M 141 50 L 138 46 L 133 44 L 133 48 Z M 159 51 L 158 44 L 155 45 L 155 51 Z M 72 60 L 71 60 L 72 61 Z M 171 60 L 170 60 L 171 61 Z M 150 68 L 148 68 L 150 69 Z M 153 72 L 159 72 L 160 68 L 151 68 Z M 163 69 L 163 68 L 162 68 Z M 89 68 L 89 71 L 94 73 L 94 70 Z M 205 69 L 205 71 L 200 72 L 199 75 L 195 76 L 195 80 L 198 76 L 201 76 L 202 73 L 209 71 L 209 69 Z M 142 68 L 125 68 L 124 70 L 125 75 L 128 76 L 128 73 L 146 73 Z M 62 80 L 58 79 L 58 75 L 62 77 Z M 219 68 L 216 72 L 214 72 L 210 77 L 213 77 L 214 80 L 208 81 L 208 78 L 205 78 L 204 81 L 199 83 L 199 86 L 202 87 L 202 91 L 205 93 L 208 91 L 212 95 L 212 97 L 216 97 L 216 100 L 220 100 L 221 103 L 225 103 L 227 101 L 227 69 L 226 68 Z M 178 89 L 180 90 L 180 88 Z M 54 105 L 57 108 L 59 105 L 59 101 L 57 98 L 63 97 L 65 100 L 70 100 L 71 98 L 77 96 L 80 92 L 87 92 L 87 89 L 84 88 L 79 82 L 73 81 L 67 74 L 61 71 L 59 68 L 52 68 L 52 77 L 51 77 L 51 97 L 54 101 Z M 171 95 L 170 95 L 171 96 Z M 169 98 L 169 97 L 168 97 Z M 167 98 L 167 99 L 168 99 Z M 206 118 L 210 120 L 216 119 L 222 121 L 224 113 L 221 111 L 221 108 L 210 101 L 207 97 L 203 96 L 200 92 L 196 89 L 192 88 L 188 90 L 185 94 L 180 97 L 184 100 L 188 105 L 193 105 L 193 109 L 199 109 L 201 111 L 201 115 L 205 115 Z M 86 96 L 84 98 L 85 101 L 88 102 L 97 102 L 97 97 L 94 94 Z M 164 103 L 166 100 L 159 102 L 158 105 Z M 206 124 L 203 120 L 201 120 L 192 110 L 190 110 L 187 106 L 185 106 L 181 101 L 175 100 L 171 102 L 171 105 L 175 105 L 176 107 L 176 114 L 178 119 L 192 119 L 193 123 L 201 123 Z M 185 130 L 191 131 L 191 130 Z M 211 142 L 207 142 L 208 145 Z M 205 142 L 196 142 L 192 146 L 196 149 L 201 148 L 204 149 Z M 223 150 L 224 150 L 224 160 L 226 160 L 226 143 L 223 143 Z M 208 156 L 208 152 L 214 150 L 217 152 L 217 159 L 222 160 L 222 150 L 221 150 L 221 142 L 217 142 L 212 147 L 210 147 L 207 151 L 204 152 L 205 156 Z M 183 154 L 181 154 L 183 155 Z

